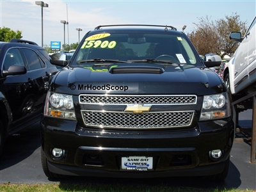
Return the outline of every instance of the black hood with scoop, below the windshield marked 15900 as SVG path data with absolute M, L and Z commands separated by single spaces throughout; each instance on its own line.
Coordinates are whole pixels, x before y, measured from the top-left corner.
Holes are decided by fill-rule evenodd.
M 56 78 L 57 77 L 57 78 Z M 89 94 L 196 94 L 225 91 L 218 74 L 192 65 L 111 65 L 108 68 L 70 67 L 51 84 L 58 93 Z

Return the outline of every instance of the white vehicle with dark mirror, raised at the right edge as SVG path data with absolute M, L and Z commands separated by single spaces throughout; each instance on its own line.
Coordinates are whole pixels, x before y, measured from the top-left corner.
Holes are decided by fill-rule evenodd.
M 241 42 L 224 71 L 228 91 L 239 99 L 256 92 L 256 17 L 244 37 L 240 32 L 230 33 L 230 39 Z M 231 97 L 231 95 L 230 95 Z

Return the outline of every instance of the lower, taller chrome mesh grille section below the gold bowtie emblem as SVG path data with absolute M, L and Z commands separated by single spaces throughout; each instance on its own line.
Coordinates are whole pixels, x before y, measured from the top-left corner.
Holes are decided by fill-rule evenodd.
M 127 113 L 116 111 L 81 111 L 89 127 L 115 129 L 156 129 L 185 127 L 191 124 L 194 111 Z

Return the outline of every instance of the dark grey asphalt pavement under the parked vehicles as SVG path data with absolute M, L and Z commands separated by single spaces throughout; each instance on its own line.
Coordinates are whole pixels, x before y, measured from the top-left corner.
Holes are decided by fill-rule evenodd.
M 0 160 L 0 183 L 13 184 L 49 184 L 49 183 L 87 183 L 87 184 L 124 184 L 193 189 L 241 189 L 256 191 L 256 164 L 250 163 L 250 127 L 252 110 L 239 115 L 239 125 L 245 132 L 237 132 L 230 154 L 230 167 L 223 182 L 200 180 L 198 177 L 167 177 L 154 179 L 120 179 L 104 177 L 67 177 L 49 180 L 42 170 L 40 161 L 39 123 L 13 134 L 6 141 L 6 147 Z

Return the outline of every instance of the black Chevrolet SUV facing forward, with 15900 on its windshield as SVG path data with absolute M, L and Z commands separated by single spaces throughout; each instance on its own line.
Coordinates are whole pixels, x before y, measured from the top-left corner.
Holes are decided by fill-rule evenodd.
M 47 177 L 223 180 L 234 140 L 227 89 L 172 26 L 99 26 L 51 79 L 41 122 Z M 207 66 L 207 67 L 206 67 Z

